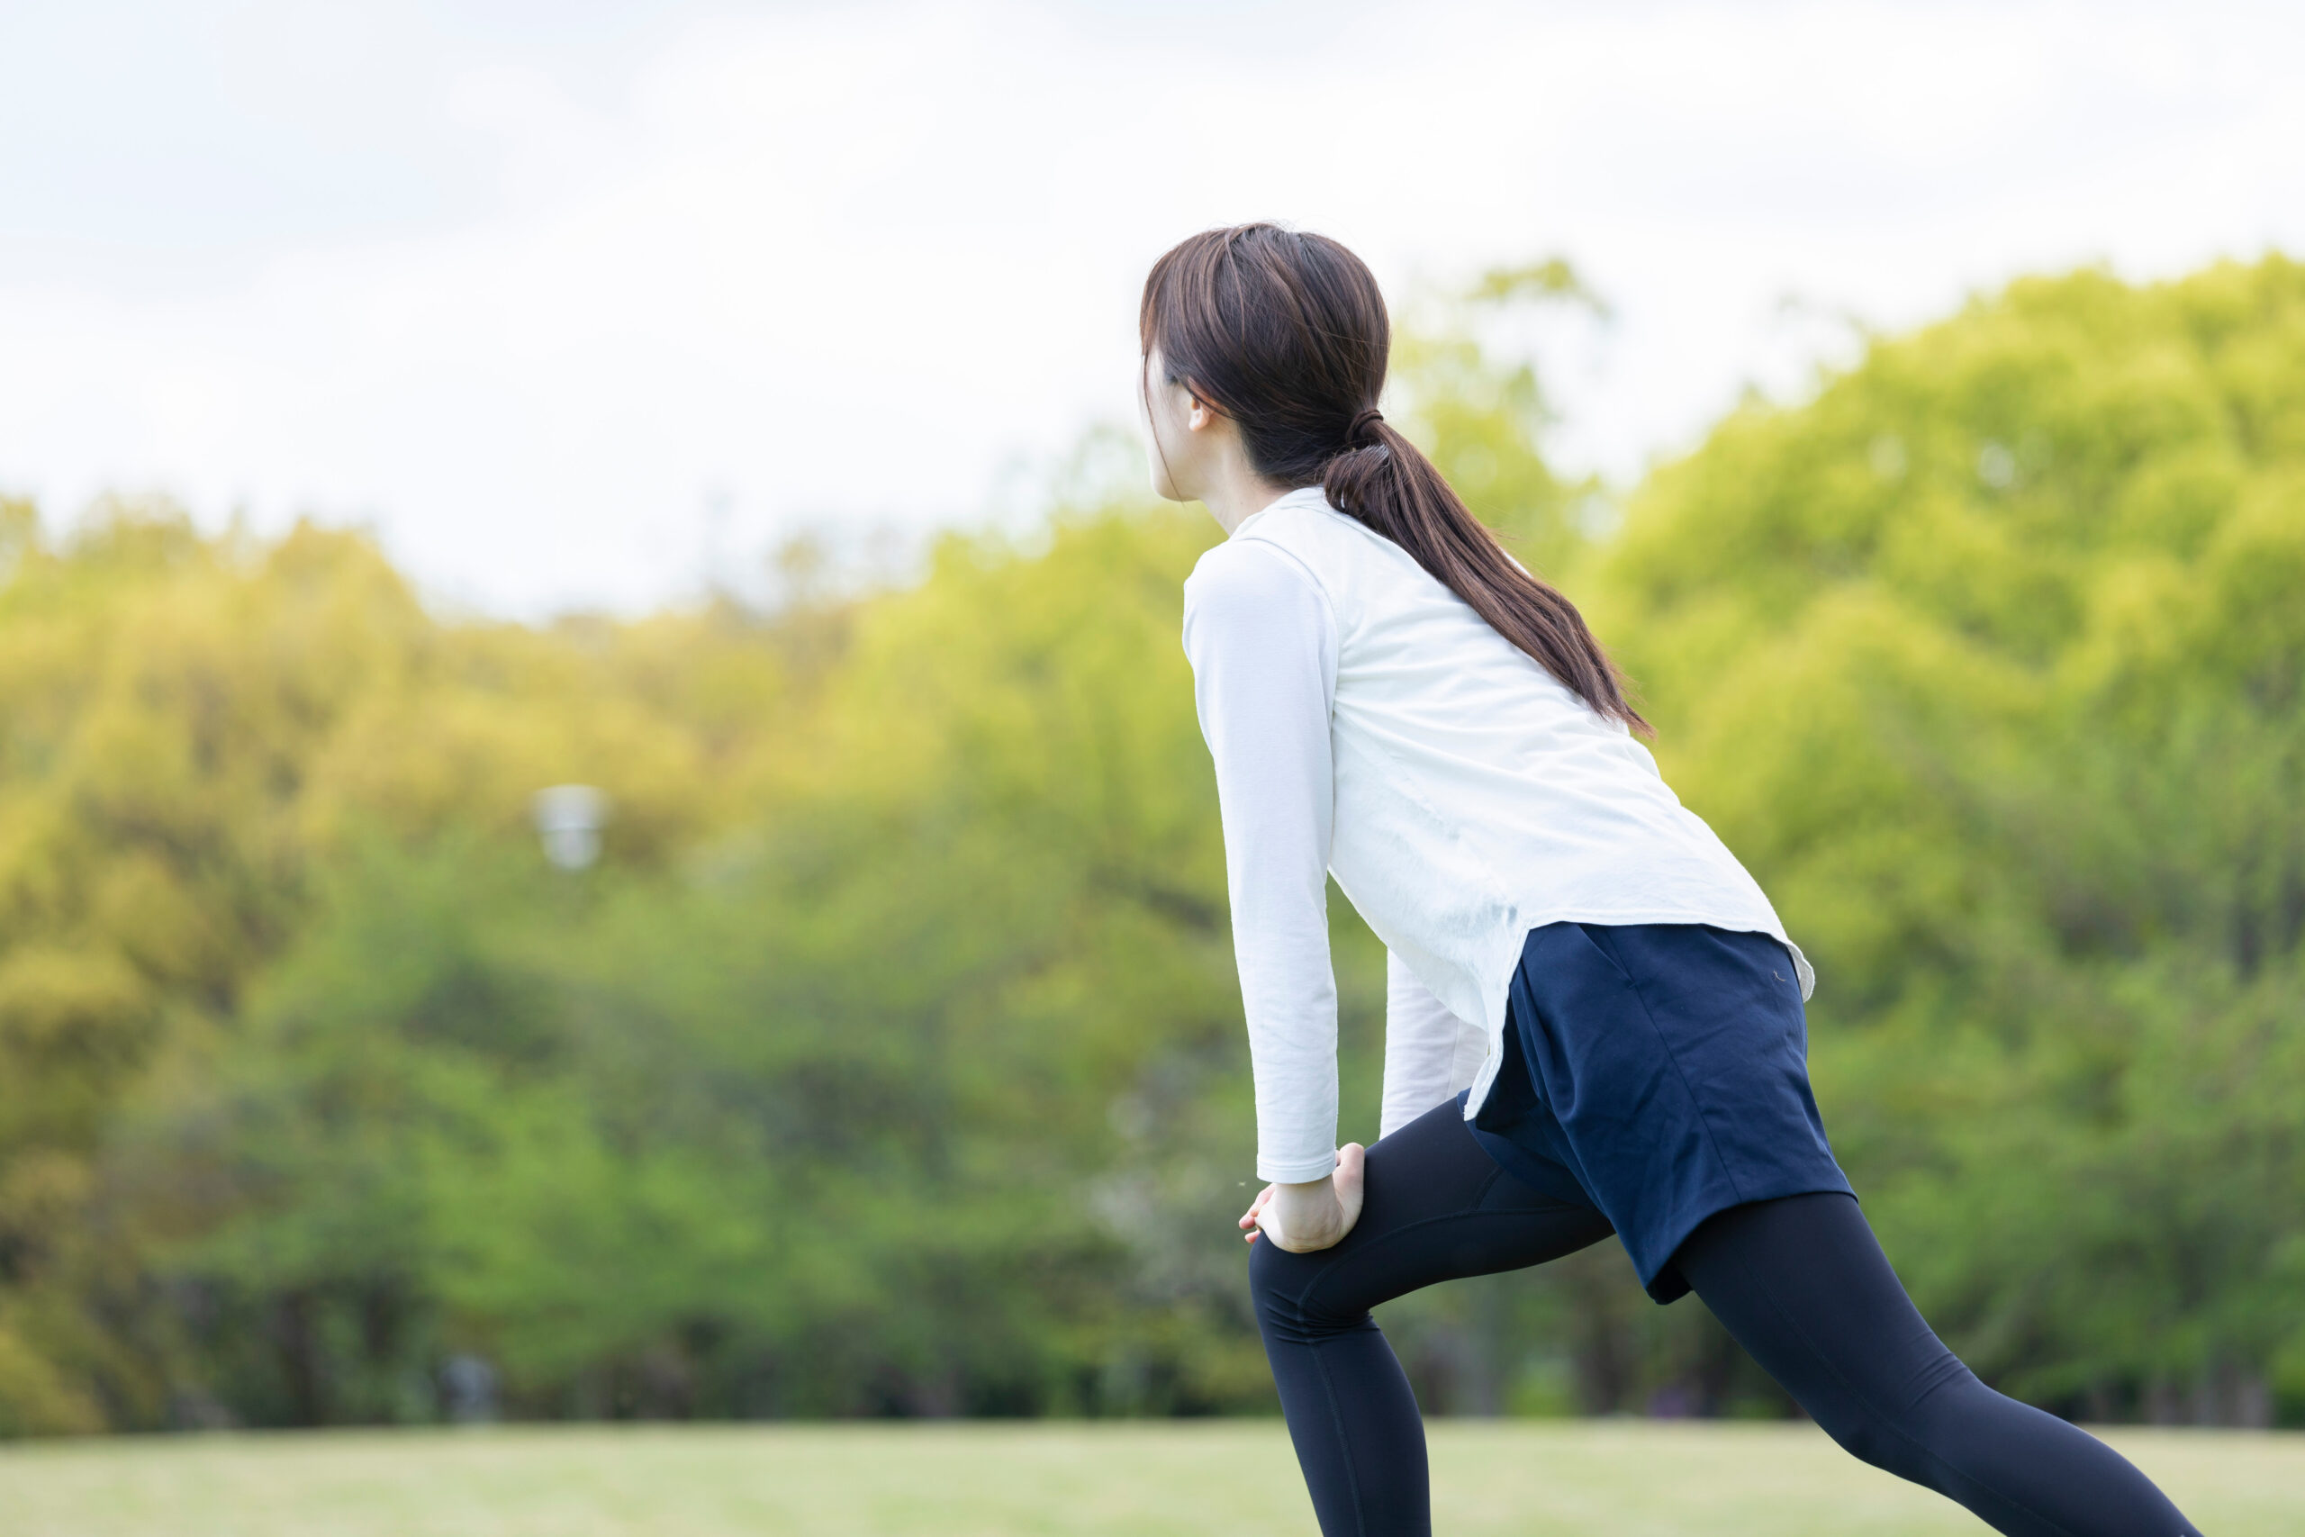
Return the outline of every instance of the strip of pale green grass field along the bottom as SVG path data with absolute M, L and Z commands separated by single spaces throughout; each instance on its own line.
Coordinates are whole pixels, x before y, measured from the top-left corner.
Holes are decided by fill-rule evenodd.
M 2215 1537 L 2305 1532 L 2305 1436 L 2107 1436 Z M 1809 1426 L 1443 1422 L 1450 1537 L 1985 1530 Z M 0 1447 L 7 1537 L 1309 1537 L 1277 1422 L 484 1429 Z

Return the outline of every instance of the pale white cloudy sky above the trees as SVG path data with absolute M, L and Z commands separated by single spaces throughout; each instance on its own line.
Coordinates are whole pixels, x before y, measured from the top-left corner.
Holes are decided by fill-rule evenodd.
M 2305 251 L 2305 7 L 0 5 L 0 491 L 360 521 L 443 599 L 982 521 L 1125 419 L 1136 288 L 1275 217 L 1570 256 L 1570 465 L 1853 311 Z M 710 514 L 719 507 L 719 514 Z

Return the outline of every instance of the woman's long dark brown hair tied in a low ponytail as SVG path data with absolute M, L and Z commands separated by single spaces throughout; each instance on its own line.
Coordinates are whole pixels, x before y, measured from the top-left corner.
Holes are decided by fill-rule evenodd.
M 1259 475 L 1321 486 L 1595 714 L 1648 730 L 1577 606 L 1524 571 L 1376 412 L 1392 320 L 1358 256 L 1277 224 L 1203 230 L 1152 263 L 1136 327 L 1146 366 L 1159 348 L 1169 383 L 1231 417 Z

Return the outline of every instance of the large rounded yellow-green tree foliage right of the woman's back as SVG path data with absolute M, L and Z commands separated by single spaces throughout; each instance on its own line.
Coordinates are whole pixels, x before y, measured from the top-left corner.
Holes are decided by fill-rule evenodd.
M 2305 270 L 2015 283 L 1634 500 L 1595 620 L 1980 1371 L 2305 1410 Z

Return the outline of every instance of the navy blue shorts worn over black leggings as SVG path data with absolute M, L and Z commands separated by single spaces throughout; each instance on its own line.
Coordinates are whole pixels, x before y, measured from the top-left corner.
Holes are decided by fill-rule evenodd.
M 1793 956 L 1706 924 L 1544 924 L 1512 975 L 1473 1136 L 1505 1173 L 1616 1226 L 1657 1302 L 1713 1212 L 1846 1191 L 1809 1095 Z

